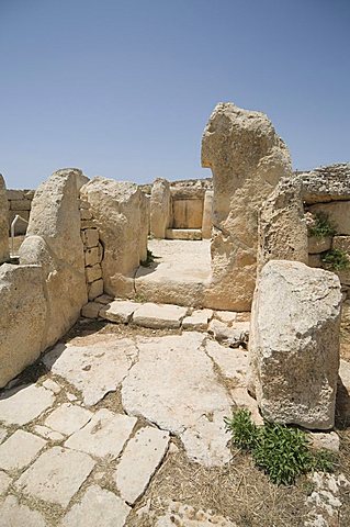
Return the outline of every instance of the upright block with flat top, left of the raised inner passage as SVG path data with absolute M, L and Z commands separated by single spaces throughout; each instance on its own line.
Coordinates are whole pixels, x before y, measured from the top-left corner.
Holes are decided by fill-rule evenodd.
M 134 273 L 147 247 L 144 193 L 134 183 L 94 178 L 82 187 L 81 197 L 90 203 L 103 245 L 105 292 L 134 294 Z

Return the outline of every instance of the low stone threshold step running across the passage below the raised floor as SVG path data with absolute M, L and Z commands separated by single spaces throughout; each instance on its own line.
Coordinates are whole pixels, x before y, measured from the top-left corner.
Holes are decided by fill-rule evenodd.
M 113 300 L 103 294 L 81 310 L 86 318 L 103 318 L 115 324 L 134 324 L 153 329 L 191 329 L 210 332 L 218 340 L 247 340 L 250 313 L 194 310 L 174 304 L 138 303 Z M 230 340 L 230 341 L 229 341 Z

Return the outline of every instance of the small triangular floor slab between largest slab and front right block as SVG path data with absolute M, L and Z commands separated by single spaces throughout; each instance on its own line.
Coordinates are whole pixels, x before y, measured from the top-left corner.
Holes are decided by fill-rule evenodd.
M 213 340 L 206 340 L 205 349 L 224 377 L 235 381 L 237 386 L 246 385 L 246 374 L 249 365 L 247 351 L 241 348 L 226 348 Z

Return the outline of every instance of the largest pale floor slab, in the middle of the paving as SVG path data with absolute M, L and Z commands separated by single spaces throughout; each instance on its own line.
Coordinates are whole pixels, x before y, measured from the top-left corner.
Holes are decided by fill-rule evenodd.
M 200 431 L 205 448 L 215 430 L 221 434 L 221 424 L 215 421 L 206 436 L 199 419 L 216 412 L 228 415 L 233 402 L 203 341 L 202 334 L 192 332 L 139 339 L 139 359 L 122 384 L 122 399 L 128 414 L 143 415 L 162 429 L 178 435 L 185 428 Z

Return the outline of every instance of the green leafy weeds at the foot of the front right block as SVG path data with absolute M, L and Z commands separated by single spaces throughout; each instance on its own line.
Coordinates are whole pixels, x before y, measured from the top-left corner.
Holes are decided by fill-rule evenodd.
M 258 427 L 245 408 L 230 419 L 225 417 L 225 425 L 233 444 L 249 451 L 272 483 L 290 485 L 312 470 L 331 472 L 334 469 L 332 455 L 327 450 L 313 452 L 306 434 L 298 428 L 272 423 Z

